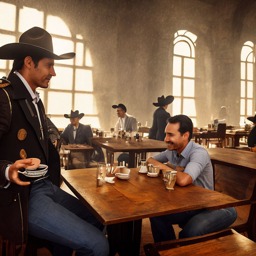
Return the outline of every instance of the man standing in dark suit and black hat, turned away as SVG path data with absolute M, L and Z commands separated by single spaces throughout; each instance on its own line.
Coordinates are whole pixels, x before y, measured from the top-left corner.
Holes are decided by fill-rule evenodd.
M 157 98 L 157 103 L 153 103 L 154 106 L 159 107 L 153 114 L 153 124 L 149 130 L 148 138 L 153 140 L 164 141 L 166 127 L 166 120 L 170 117 L 170 114 L 166 111 L 169 104 L 174 100 L 174 97 L 169 95 L 166 98 L 164 95 Z

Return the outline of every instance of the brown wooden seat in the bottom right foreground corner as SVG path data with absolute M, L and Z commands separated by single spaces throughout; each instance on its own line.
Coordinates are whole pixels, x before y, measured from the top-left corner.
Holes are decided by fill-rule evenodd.
M 185 239 L 144 245 L 146 256 L 255 255 L 256 243 L 233 229 Z

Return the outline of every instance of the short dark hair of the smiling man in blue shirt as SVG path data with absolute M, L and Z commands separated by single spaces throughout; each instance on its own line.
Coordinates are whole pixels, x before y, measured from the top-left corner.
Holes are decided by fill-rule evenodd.
M 167 119 L 166 122 L 167 124 L 180 123 L 180 128 L 178 131 L 180 132 L 181 135 L 183 135 L 185 132 L 189 132 L 188 141 L 191 140 L 192 133 L 193 133 L 193 123 L 188 116 L 185 116 L 185 115 L 171 116 Z

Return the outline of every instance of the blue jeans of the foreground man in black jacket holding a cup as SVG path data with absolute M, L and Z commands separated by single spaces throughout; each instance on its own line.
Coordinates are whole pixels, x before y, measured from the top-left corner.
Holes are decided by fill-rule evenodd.
M 62 247 L 62 253 L 56 254 L 72 255 L 75 250 L 76 255 L 108 255 L 108 240 L 100 229 L 103 225 L 77 198 L 48 179 L 34 182 L 28 200 L 28 233 Z

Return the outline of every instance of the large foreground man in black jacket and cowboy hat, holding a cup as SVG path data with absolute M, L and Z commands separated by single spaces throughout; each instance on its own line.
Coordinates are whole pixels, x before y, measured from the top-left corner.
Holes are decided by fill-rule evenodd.
M 0 235 L 17 235 L 13 240 L 21 243 L 26 243 L 27 233 L 47 239 L 56 255 L 72 255 L 73 250 L 79 255 L 108 255 L 101 223 L 59 188 L 59 155 L 48 139 L 44 105 L 36 92 L 37 87 L 48 88 L 56 76 L 54 60 L 74 57 L 75 53 L 54 54 L 51 35 L 39 27 L 24 32 L 18 43 L 0 47 L 0 59 L 14 60 L 7 80 L 0 82 Z M 37 181 L 21 181 L 17 171 L 31 165 L 30 158 L 40 159 L 48 171 Z M 17 201 L 17 194 L 20 212 L 8 213 L 6 202 L 15 195 Z M 16 219 L 20 226 L 13 227 Z

